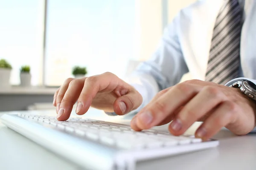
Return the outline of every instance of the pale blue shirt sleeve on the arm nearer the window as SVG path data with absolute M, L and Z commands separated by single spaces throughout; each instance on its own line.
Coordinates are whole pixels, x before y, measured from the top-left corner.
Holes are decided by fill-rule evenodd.
M 189 71 L 179 42 L 179 18 L 178 14 L 165 29 L 157 51 L 151 59 L 142 62 L 125 80 L 143 96 L 142 105 L 134 112 L 140 111 L 159 91 L 180 82 L 183 74 Z

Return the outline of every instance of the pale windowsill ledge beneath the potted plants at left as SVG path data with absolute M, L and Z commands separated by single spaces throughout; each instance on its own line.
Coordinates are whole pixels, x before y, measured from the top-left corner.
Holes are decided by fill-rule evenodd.
M 11 88 L 0 88 L 1 94 L 25 94 L 25 95 L 54 95 L 58 88 L 46 88 L 46 87 L 20 87 L 12 86 Z

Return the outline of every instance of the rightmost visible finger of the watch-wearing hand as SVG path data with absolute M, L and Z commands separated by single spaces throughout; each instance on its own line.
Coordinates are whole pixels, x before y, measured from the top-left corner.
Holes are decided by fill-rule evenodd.
M 222 127 L 227 126 L 236 119 L 239 107 L 230 101 L 222 102 L 218 108 L 205 120 L 195 132 L 195 136 L 207 140 L 214 136 Z

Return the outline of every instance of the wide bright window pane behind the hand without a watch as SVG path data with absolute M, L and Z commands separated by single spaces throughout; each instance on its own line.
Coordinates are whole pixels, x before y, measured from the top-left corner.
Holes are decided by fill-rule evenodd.
M 49 0 L 46 33 L 46 85 L 61 85 L 75 65 L 122 77 L 136 58 L 135 0 Z

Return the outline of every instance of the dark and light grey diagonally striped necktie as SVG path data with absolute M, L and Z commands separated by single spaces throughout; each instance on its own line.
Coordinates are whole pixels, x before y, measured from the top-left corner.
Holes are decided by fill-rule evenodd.
M 205 80 L 224 85 L 239 76 L 241 7 L 226 0 L 216 19 Z

